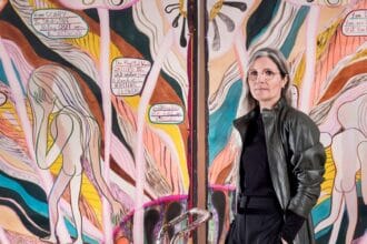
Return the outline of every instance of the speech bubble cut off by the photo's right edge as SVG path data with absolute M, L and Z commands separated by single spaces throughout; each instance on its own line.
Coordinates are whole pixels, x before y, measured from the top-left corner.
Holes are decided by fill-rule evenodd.
M 367 10 L 360 9 L 348 13 L 343 23 L 343 33 L 350 37 L 367 35 Z

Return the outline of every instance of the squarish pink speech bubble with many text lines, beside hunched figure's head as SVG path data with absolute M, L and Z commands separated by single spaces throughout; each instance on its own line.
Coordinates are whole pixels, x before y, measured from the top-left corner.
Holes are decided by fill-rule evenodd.
M 137 95 L 141 92 L 150 62 L 142 59 L 118 58 L 112 61 L 111 90 L 115 95 Z

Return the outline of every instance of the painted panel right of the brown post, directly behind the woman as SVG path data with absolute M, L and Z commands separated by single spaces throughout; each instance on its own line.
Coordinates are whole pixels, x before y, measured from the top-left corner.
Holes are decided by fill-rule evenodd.
M 278 48 L 291 65 L 294 106 L 310 114 L 327 153 L 313 210 L 317 243 L 367 243 L 367 1 L 207 1 L 209 71 L 208 238 L 222 243 L 231 220 L 232 120 L 248 111 L 248 57 Z

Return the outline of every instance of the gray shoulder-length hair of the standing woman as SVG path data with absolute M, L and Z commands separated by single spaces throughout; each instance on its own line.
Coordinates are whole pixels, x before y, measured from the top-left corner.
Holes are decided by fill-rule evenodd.
M 277 49 L 272 49 L 272 48 L 262 48 L 257 50 L 256 52 L 252 53 L 252 55 L 250 57 L 249 61 L 248 61 L 248 68 L 252 65 L 252 63 L 262 57 L 267 57 L 269 58 L 278 68 L 279 72 L 280 72 L 280 77 L 282 79 L 287 79 L 286 85 L 281 89 L 281 98 L 284 98 L 288 104 L 291 104 L 291 95 L 289 92 L 289 88 L 291 85 L 290 82 L 290 78 L 289 78 L 289 65 L 288 65 L 288 61 L 285 58 L 285 55 Z M 246 82 L 248 84 L 248 77 L 246 74 Z M 247 95 L 247 100 L 249 102 L 250 105 L 254 105 L 257 103 L 257 101 L 252 98 L 251 93 L 248 92 Z

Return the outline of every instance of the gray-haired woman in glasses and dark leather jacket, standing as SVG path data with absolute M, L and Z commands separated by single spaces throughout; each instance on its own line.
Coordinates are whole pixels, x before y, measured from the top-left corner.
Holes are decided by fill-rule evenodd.
M 234 121 L 242 150 L 226 243 L 313 243 L 310 211 L 325 171 L 319 130 L 289 105 L 289 68 L 278 50 L 256 51 L 248 67 L 252 110 Z

